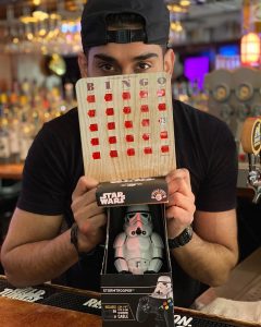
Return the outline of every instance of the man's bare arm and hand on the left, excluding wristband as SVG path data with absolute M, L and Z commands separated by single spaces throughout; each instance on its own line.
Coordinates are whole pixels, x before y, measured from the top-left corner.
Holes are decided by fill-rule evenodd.
M 72 195 L 78 225 L 78 249 L 89 252 L 103 239 L 105 215 L 96 203 L 97 181 L 82 177 Z M 62 216 L 44 216 L 15 209 L 1 250 L 5 275 L 16 287 L 59 277 L 78 261 L 71 230 L 60 234 Z

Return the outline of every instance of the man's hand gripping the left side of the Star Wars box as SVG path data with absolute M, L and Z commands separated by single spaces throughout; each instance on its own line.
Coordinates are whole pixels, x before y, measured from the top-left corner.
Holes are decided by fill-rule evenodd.
M 88 252 L 104 240 L 107 216 L 96 202 L 98 181 L 82 177 L 72 195 L 72 210 L 78 225 L 79 252 Z

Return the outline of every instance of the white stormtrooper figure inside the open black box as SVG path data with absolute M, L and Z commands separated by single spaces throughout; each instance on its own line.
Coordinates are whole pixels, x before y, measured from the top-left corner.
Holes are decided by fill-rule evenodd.
M 123 232 L 114 240 L 114 265 L 119 272 L 158 272 L 162 266 L 163 242 L 153 232 L 148 205 L 126 208 Z

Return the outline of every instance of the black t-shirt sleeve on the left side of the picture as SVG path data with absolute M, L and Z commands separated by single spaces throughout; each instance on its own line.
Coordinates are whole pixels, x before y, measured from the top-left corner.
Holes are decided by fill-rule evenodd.
M 63 141 L 44 125 L 28 152 L 17 207 L 40 215 L 60 215 L 66 198 Z

